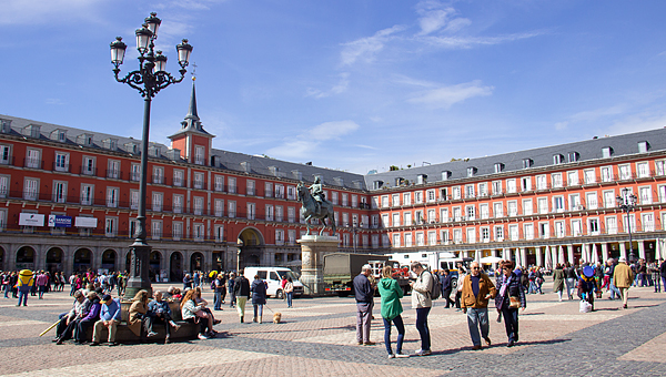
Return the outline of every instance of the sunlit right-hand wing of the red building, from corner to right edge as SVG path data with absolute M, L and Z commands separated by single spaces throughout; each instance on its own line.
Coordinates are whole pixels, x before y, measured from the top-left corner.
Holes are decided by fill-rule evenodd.
M 396 251 L 554 266 L 633 248 L 652 261 L 665 255 L 665 137 L 655 130 L 367 175 L 373 221 Z M 628 216 L 623 191 L 637 196 Z

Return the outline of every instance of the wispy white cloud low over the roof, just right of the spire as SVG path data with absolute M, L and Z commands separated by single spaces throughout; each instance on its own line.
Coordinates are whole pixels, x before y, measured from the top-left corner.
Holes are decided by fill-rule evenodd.
M 305 159 L 315 153 L 323 142 L 339 140 L 357 129 L 359 124 L 353 121 L 325 122 L 285 140 L 266 153 L 279 159 Z

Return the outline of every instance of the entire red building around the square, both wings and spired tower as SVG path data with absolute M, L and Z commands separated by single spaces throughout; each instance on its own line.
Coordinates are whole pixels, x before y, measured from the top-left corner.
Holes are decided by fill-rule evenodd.
M 215 150 L 214 137 L 193 84 L 171 145 L 148 151 L 152 276 L 297 265 L 296 184 L 315 176 L 342 251 L 542 266 L 664 255 L 666 130 L 367 175 Z M 141 153 L 131 137 L 0 115 L 0 269 L 128 269 Z M 625 188 L 638 197 L 628 216 Z

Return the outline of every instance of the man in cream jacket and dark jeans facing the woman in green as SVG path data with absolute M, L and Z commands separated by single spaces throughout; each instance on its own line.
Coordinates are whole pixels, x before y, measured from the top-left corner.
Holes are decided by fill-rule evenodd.
M 417 276 L 416 281 L 410 282 L 410 285 L 412 286 L 412 308 L 416 309 L 416 329 L 421 336 L 421 349 L 415 355 L 427 356 L 432 354 L 427 315 L 433 306 L 433 300 L 431 299 L 433 276 L 418 262 L 412 262 L 411 267 L 412 272 Z

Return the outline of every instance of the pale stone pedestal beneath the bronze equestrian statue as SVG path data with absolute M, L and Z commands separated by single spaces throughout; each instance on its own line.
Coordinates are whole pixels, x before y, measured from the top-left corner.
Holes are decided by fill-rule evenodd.
M 304 293 L 311 296 L 324 294 L 324 254 L 337 252 L 340 240 L 333 236 L 306 235 L 297 240 L 301 244 L 301 283 Z

